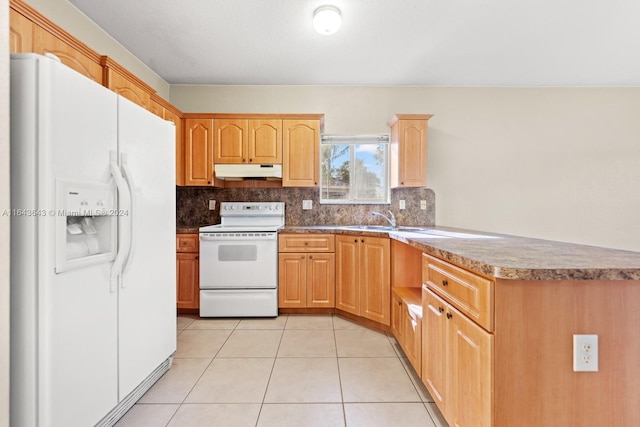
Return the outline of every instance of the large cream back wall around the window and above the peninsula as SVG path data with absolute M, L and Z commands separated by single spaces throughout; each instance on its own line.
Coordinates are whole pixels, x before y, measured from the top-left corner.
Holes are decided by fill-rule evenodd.
M 436 223 L 640 251 L 640 88 L 171 86 L 185 112 L 325 113 L 325 133 L 432 113 Z

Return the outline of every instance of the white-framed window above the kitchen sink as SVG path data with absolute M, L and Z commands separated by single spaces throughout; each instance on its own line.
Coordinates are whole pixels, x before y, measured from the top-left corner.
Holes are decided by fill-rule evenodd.
M 388 135 L 324 135 L 320 203 L 389 203 Z

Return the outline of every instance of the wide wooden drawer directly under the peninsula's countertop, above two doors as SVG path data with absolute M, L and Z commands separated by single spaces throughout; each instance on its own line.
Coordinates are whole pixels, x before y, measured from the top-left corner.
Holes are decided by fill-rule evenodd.
M 471 320 L 493 331 L 493 281 L 423 255 L 423 281 Z

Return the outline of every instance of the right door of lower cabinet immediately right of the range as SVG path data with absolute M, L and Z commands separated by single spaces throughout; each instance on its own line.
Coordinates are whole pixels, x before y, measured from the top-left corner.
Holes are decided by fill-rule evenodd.
M 335 254 L 308 255 L 307 307 L 335 307 L 335 263 Z

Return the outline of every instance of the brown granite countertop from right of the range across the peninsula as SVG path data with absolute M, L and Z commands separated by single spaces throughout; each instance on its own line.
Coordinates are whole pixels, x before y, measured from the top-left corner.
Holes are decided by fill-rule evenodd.
M 367 231 L 344 226 L 285 227 L 280 232 L 389 236 L 498 279 L 640 280 L 640 252 L 448 227 L 421 229 L 438 234 Z

